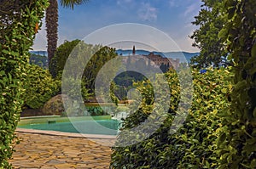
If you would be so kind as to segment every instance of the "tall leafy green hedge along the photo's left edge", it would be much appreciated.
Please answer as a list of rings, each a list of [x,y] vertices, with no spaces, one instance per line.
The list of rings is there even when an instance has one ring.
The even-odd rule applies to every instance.
[[[47,0],[3,0],[0,5],[0,168],[11,168],[29,49]]]

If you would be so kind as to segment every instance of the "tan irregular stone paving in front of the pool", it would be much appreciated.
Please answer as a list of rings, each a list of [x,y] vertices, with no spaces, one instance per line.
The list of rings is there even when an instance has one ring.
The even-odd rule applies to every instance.
[[[20,144],[10,161],[14,168],[109,168],[111,149],[90,138],[17,132]],[[67,133],[66,133],[67,135]],[[98,138],[113,142],[111,138]]]

